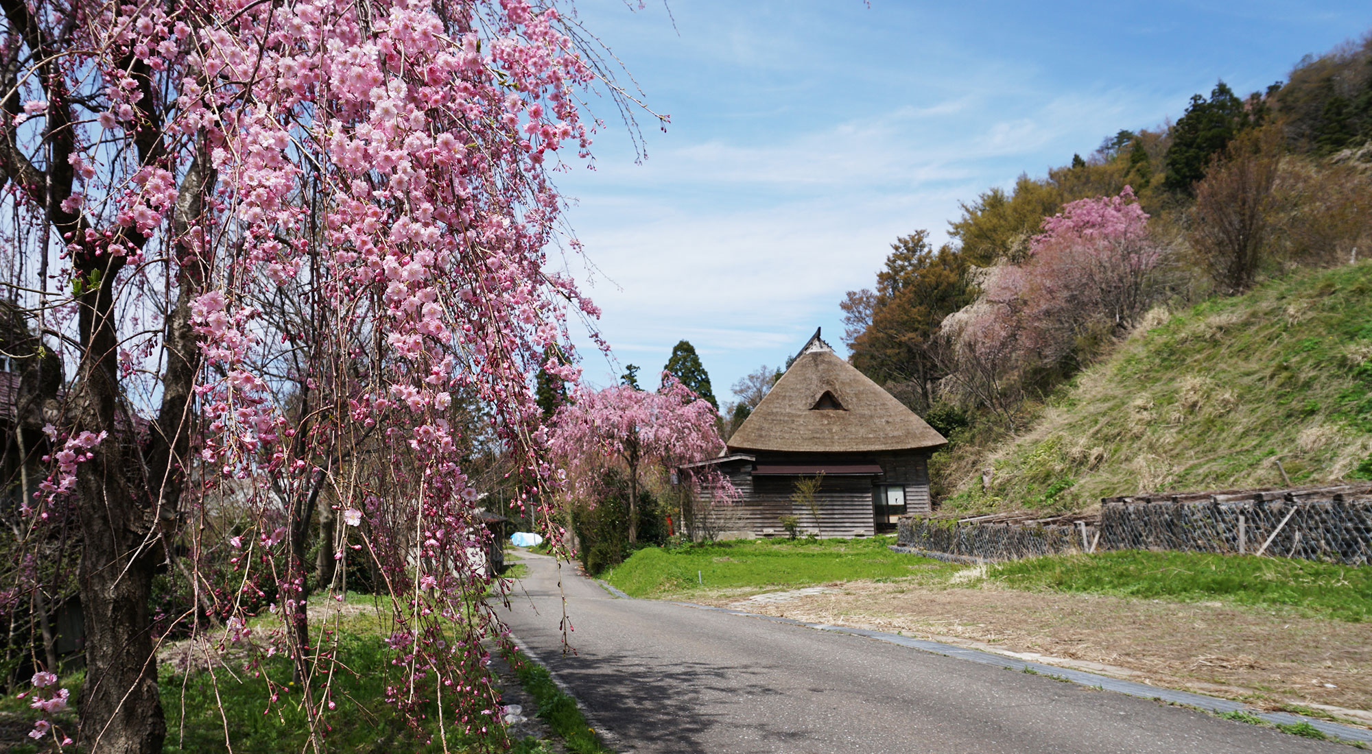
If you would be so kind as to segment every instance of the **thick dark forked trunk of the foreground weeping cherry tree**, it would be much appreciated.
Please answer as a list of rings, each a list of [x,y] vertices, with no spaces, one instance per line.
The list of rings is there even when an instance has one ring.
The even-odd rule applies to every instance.
[[[92,281],[80,296],[84,350],[71,389],[74,429],[108,432],[93,448],[93,458],[77,466],[86,650],[78,731],[80,744],[92,754],[161,754],[166,738],[148,602],[156,563],[166,559],[165,535],[177,521],[191,465],[191,402],[200,369],[191,302],[203,292],[207,259],[185,245],[185,239],[189,223],[203,211],[202,192],[213,185],[213,174],[202,141],[181,182],[173,219],[180,291],[167,313],[162,406],[143,463],[123,450],[136,443],[137,433],[118,380],[119,317],[113,291],[122,258],[85,250],[74,265],[80,278]],[[92,278],[92,271],[100,274]],[[125,474],[140,484],[132,485]]]

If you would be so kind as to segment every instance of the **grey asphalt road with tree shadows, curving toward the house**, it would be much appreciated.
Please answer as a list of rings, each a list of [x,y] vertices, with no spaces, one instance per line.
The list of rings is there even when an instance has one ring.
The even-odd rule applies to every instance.
[[[505,620],[620,754],[1351,751],[860,636],[615,599],[565,563],[521,557],[530,574]]]

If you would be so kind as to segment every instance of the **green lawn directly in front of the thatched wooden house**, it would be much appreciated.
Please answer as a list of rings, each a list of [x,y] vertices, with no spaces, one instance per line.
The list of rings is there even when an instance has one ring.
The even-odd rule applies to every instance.
[[[689,595],[720,588],[788,588],[848,581],[910,577],[938,561],[901,555],[886,548],[893,536],[867,539],[752,539],[686,546],[649,547],[605,574],[630,596]]]

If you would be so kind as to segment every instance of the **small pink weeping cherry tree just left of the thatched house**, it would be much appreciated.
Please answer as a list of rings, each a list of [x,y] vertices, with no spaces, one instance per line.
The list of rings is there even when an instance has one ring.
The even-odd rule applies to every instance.
[[[605,472],[624,472],[630,485],[628,543],[634,544],[643,476],[719,455],[724,441],[716,424],[715,407],[664,372],[657,392],[630,385],[578,389],[553,418],[550,447],[554,463],[565,473],[568,496],[594,503],[608,494]]]

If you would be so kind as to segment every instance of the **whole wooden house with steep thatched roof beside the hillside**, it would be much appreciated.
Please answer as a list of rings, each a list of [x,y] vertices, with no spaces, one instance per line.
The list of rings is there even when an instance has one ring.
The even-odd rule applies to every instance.
[[[929,511],[929,455],[947,440],[819,337],[729,439],[716,466],[742,492],[723,515],[750,536],[785,535],[794,515],[820,536],[895,529],[897,515]],[[797,483],[822,477],[812,509]],[[816,515],[818,511],[818,515]]]

